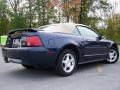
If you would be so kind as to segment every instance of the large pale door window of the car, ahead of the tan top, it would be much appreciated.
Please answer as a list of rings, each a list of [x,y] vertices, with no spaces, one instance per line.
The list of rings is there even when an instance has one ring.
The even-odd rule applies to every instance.
[[[80,31],[81,35],[84,37],[91,37],[96,38],[98,37],[98,34],[92,31],[91,29],[87,27],[77,26],[78,30]]]

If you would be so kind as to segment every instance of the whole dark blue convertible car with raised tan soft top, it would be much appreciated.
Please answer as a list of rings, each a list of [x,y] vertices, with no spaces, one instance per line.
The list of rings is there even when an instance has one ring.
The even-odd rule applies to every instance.
[[[62,76],[71,75],[78,64],[102,60],[115,63],[119,58],[115,42],[88,26],[74,23],[13,30],[2,52],[6,63],[26,68],[54,67]]]

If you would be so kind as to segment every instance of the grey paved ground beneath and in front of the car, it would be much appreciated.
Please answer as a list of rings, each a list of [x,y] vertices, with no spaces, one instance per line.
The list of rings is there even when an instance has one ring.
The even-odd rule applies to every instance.
[[[0,50],[0,90],[120,90],[120,60],[79,65],[72,76],[60,77],[53,70],[5,64]]]

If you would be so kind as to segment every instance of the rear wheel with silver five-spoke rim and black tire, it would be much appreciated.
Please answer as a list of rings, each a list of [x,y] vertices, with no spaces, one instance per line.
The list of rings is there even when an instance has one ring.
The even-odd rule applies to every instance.
[[[61,76],[69,76],[76,70],[77,58],[74,51],[65,49],[57,60],[56,73]]]

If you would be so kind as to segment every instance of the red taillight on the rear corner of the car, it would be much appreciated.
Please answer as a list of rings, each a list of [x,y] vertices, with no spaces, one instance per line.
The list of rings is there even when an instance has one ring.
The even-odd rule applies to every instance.
[[[43,46],[41,39],[38,36],[30,36],[26,38],[26,44],[29,47]]]

